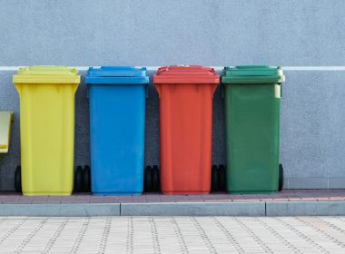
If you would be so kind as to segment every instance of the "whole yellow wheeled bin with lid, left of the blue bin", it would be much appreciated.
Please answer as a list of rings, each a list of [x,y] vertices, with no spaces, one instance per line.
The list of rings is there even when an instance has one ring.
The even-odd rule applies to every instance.
[[[21,179],[24,195],[70,195],[74,187],[74,94],[80,76],[64,66],[20,68]]]

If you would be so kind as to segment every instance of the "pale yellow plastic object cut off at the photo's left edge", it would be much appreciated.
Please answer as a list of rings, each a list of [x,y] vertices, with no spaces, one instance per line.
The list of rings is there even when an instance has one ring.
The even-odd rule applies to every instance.
[[[0,153],[8,152],[13,112],[0,112]]]

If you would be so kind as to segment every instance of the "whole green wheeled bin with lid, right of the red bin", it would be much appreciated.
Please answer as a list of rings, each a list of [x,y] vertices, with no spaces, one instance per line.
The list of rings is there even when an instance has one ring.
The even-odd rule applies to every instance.
[[[230,192],[260,193],[279,189],[279,179],[282,181],[280,102],[284,80],[280,67],[224,69],[226,189]]]

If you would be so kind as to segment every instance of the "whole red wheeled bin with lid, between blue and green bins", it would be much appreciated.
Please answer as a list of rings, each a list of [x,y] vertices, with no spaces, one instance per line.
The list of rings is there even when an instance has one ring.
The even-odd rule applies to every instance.
[[[153,76],[160,98],[163,194],[207,194],[211,189],[212,68],[165,66]]]

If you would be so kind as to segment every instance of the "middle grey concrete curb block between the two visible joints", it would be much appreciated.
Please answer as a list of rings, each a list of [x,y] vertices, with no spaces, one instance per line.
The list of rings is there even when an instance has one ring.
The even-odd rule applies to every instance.
[[[123,216],[265,216],[264,202],[122,203]]]

